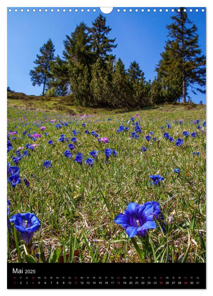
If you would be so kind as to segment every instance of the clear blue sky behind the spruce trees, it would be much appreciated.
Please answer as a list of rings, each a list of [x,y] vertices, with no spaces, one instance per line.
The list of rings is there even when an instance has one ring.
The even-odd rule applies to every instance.
[[[86,9],[84,12],[80,9],[78,12],[74,9],[69,12],[66,7],[66,12],[63,12],[63,7],[57,12],[57,8],[53,7],[54,12],[51,12],[50,8],[48,12],[44,11],[45,8],[42,8],[42,12],[38,12],[38,8],[36,12],[32,12],[31,7],[30,12],[24,7],[24,12],[20,11],[21,8],[14,12],[12,8],[12,12],[7,13],[7,86],[12,90],[28,95],[41,94],[42,86],[32,86],[29,76],[30,70],[35,66],[33,61],[36,54],[39,54],[40,46],[51,38],[56,49],[55,55],[61,56],[65,35],[70,35],[81,21],[90,26],[100,13],[99,7],[96,12],[92,11],[93,8],[90,8],[90,12]],[[187,12],[188,18],[198,27],[199,44],[203,54],[206,54],[206,12],[201,12],[201,8],[195,12],[192,7],[193,12],[189,12],[189,7]],[[156,8],[156,12],[153,12],[153,8],[150,8],[150,12],[147,12],[146,8],[144,12],[141,12],[141,9],[135,12],[134,7],[132,10],[129,12],[126,8],[126,12],[117,12],[117,8],[114,8],[110,14],[104,15],[107,25],[112,28],[109,38],[116,37],[118,44],[113,54],[122,59],[126,68],[130,62],[136,60],[146,79],[153,80],[156,75],[155,65],[167,40],[166,25],[172,22],[170,16],[175,12],[171,9],[165,12],[165,8],[162,12],[159,12],[159,8]],[[189,94],[195,103],[200,100],[206,103],[206,95],[194,95],[190,90]]]

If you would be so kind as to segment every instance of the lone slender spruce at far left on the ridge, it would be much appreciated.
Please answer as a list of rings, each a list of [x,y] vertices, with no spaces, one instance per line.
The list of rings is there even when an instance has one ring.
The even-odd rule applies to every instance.
[[[45,43],[40,48],[40,55],[36,55],[37,59],[34,63],[37,65],[34,67],[34,70],[30,70],[30,76],[32,85],[35,86],[38,84],[40,86],[43,84],[42,94],[44,95],[45,87],[48,86],[50,79],[50,62],[53,61],[54,58],[54,45],[52,40],[49,39],[47,43]]]

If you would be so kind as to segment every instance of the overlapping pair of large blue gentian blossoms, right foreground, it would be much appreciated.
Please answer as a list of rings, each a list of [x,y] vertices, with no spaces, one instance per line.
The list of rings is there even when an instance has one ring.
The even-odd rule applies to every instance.
[[[119,214],[114,221],[125,229],[130,238],[135,235],[144,238],[147,229],[156,228],[154,220],[159,219],[160,215],[159,203],[155,201],[146,202],[144,205],[131,202],[126,211]]]

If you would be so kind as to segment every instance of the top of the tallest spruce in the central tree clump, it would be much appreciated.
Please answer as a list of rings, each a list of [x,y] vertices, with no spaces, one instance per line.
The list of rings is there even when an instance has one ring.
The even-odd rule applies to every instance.
[[[107,60],[109,53],[112,52],[113,48],[116,48],[117,44],[114,44],[116,38],[109,39],[107,37],[111,30],[106,25],[106,18],[101,14],[92,22],[92,27],[88,28],[95,61],[98,58],[103,59],[103,61]]]

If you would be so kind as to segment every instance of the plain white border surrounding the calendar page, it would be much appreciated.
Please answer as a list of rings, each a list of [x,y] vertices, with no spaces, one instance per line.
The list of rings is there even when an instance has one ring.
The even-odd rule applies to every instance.
[[[60,4],[60,5],[58,5]],[[76,4],[76,5],[75,5]],[[89,4],[89,5],[88,5]],[[140,289],[140,291],[138,290],[134,290],[135,293],[141,293],[141,294],[146,294],[149,293],[149,295],[154,295],[154,293],[160,293],[161,295],[180,295],[180,293],[182,295],[188,295],[189,293],[193,293],[193,295],[199,295],[202,293],[208,293],[210,294],[210,290],[213,291],[212,289],[212,283],[213,283],[213,279],[211,278],[213,271],[212,271],[212,266],[213,266],[213,256],[212,256],[212,245],[213,245],[213,237],[211,234],[211,226],[212,226],[212,221],[211,221],[211,216],[212,216],[212,208],[213,208],[213,196],[212,196],[212,192],[211,192],[211,176],[212,176],[212,167],[213,167],[213,161],[212,161],[212,145],[213,145],[213,139],[212,139],[212,133],[211,130],[213,130],[213,123],[211,122],[211,115],[212,115],[212,111],[213,111],[213,91],[212,91],[212,68],[213,68],[213,57],[212,57],[212,36],[211,36],[211,29],[213,28],[213,4],[210,3],[210,1],[197,1],[197,0],[193,0],[193,1],[188,1],[188,0],[180,0],[180,1],[118,1],[118,0],[108,0],[108,1],[56,1],[56,0],[52,0],[52,1],[41,1],[41,0],[37,0],[37,1],[26,1],[26,0],[20,0],[20,1],[15,1],[15,0],[9,0],[9,1],[5,1],[2,0],[1,4],[0,4],[0,21],[1,21],[1,41],[3,40],[3,42],[1,42],[1,47],[0,47],[0,57],[1,57],[1,65],[3,65],[3,68],[1,68],[1,79],[0,79],[0,83],[1,83],[1,109],[0,109],[0,120],[1,120],[1,145],[0,145],[0,188],[1,188],[1,197],[0,197],[0,201],[2,203],[2,206],[0,207],[0,217],[1,217],[1,221],[0,221],[0,225],[1,225],[1,244],[0,244],[0,254],[1,254],[1,265],[0,265],[0,283],[1,283],[1,288],[4,287],[4,291],[6,289],[6,231],[4,231],[4,229],[6,229],[6,210],[5,210],[5,197],[6,197],[6,149],[5,149],[5,144],[4,144],[4,139],[6,139],[6,7],[17,7],[17,8],[21,8],[21,7],[135,7],[135,8],[139,8],[139,7],[147,7],[147,8],[155,8],[155,7],[206,7],[206,14],[207,14],[207,52],[209,53],[209,55],[207,56],[207,95],[208,98],[207,99],[207,104],[208,104],[208,109],[207,109],[207,159],[208,159],[208,165],[207,165],[207,229],[209,229],[208,234],[207,234],[207,250],[209,250],[209,252],[207,252],[207,290],[147,290],[147,289]],[[210,69],[208,71],[208,69]],[[209,87],[208,87],[208,82],[209,82]],[[208,118],[210,118],[208,120]],[[208,256],[209,254],[209,256]],[[141,263],[142,264],[142,263]],[[143,268],[143,266],[142,266]],[[175,268],[175,265],[171,264],[171,269]],[[1,291],[3,291],[3,289],[1,289]],[[59,290],[7,290],[5,291],[7,295],[13,295],[14,294],[16,296],[19,295],[23,295],[26,293],[30,293],[31,295],[36,295],[39,292],[39,295],[47,295],[47,294],[51,294],[51,295],[57,295],[58,293],[60,293]],[[67,290],[64,290],[64,293],[67,294]],[[101,295],[105,296],[105,295],[117,295],[117,294],[122,294],[122,296],[126,296],[129,295],[129,293],[132,293],[133,291],[130,289],[122,289],[122,290],[74,290],[72,289],[71,291],[69,291],[68,293],[72,293],[75,295],[83,295],[83,294],[87,294],[88,296],[94,296],[94,295],[99,295],[101,293]],[[211,293],[212,294],[212,293]]]

